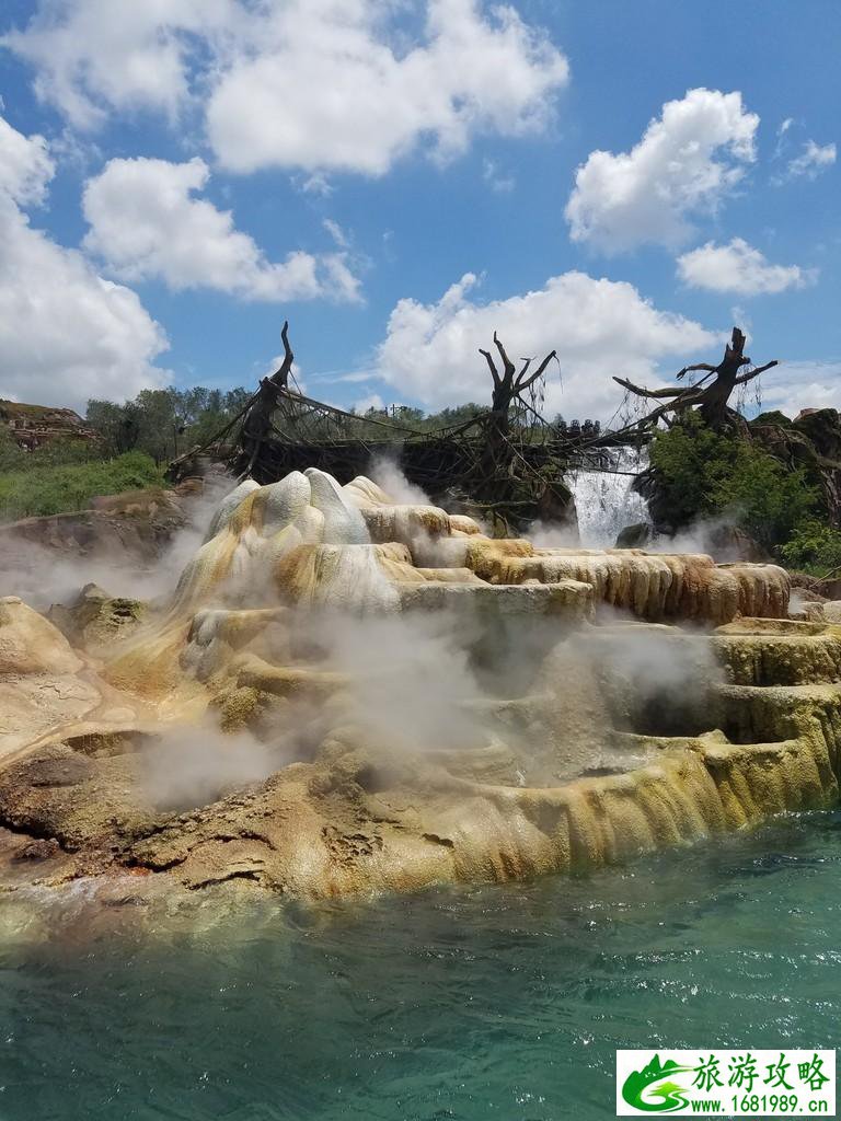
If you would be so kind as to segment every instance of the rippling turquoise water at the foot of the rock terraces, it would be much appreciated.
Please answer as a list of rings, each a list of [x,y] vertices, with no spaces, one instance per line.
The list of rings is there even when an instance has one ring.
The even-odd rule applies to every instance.
[[[617,1047],[841,1043],[839,814],[586,880],[132,910],[0,948],[2,1121],[608,1118]]]

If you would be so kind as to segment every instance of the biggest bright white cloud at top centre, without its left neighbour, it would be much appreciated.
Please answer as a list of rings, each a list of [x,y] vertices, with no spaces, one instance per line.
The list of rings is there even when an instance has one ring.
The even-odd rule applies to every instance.
[[[424,41],[398,54],[373,0],[294,0],[267,18],[258,50],[222,75],[207,133],[224,166],[382,175],[432,142],[461,152],[477,130],[542,126],[566,84],[564,56],[510,7],[428,0]]]

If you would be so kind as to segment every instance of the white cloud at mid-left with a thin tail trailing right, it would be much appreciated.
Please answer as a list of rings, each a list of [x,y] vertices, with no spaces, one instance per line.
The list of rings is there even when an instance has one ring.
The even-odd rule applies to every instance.
[[[346,253],[266,259],[230,211],[194,197],[210,178],[198,159],[112,159],[84,192],[85,248],[123,279],[161,278],[173,289],[215,288],[243,299],[358,300]]]

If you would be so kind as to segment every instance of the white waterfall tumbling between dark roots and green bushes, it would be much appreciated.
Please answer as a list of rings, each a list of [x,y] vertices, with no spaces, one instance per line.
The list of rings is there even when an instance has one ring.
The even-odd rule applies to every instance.
[[[575,500],[585,548],[612,548],[627,526],[651,524],[646,500],[631,489],[636,474],[648,466],[647,453],[617,448],[608,455],[608,470],[571,471],[564,479]]]

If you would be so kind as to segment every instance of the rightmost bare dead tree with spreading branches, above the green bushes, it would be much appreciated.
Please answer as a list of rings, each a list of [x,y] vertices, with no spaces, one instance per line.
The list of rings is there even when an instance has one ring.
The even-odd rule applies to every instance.
[[[613,378],[622,388],[636,393],[637,397],[663,400],[648,416],[639,421],[640,427],[648,427],[656,424],[660,418],[668,418],[668,414],[682,413],[684,409],[697,407],[706,424],[720,432],[724,428],[732,416],[728,408],[728,401],[733,390],[738,386],[745,386],[760,373],[777,365],[777,360],[766,362],[748,373],[739,373],[743,365],[750,365],[750,359],[745,353],[745,335],[738,327],[733,327],[730,342],[724,348],[724,356],[718,365],[710,365],[709,362],[697,362],[695,365],[685,365],[677,374],[678,380],[693,370],[705,370],[705,377],[684,389],[681,386],[665,386],[663,389],[646,389],[635,386],[625,378]],[[710,379],[713,379],[710,381]],[[710,382],[709,385],[704,385]]]

